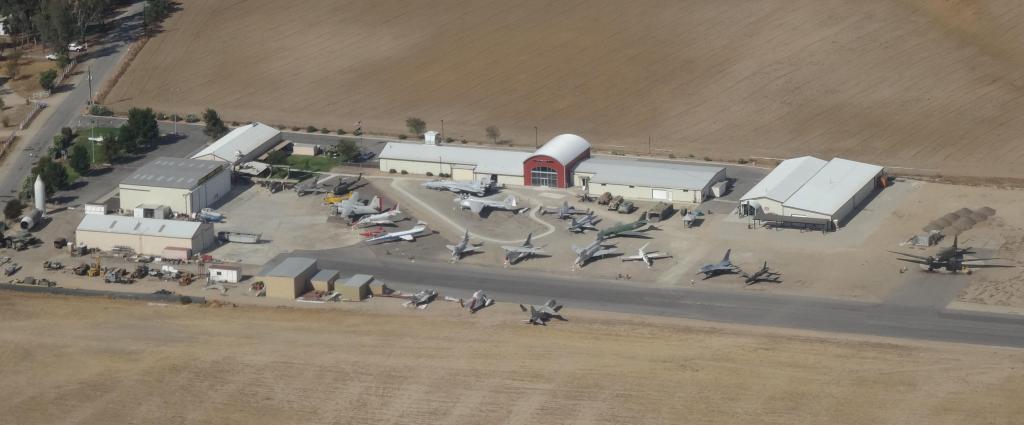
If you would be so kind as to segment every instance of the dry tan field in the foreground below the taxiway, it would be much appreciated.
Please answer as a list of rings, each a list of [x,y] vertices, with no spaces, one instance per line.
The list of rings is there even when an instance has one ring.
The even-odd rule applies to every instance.
[[[566,310],[0,293],[17,424],[1017,423],[1024,352]]]

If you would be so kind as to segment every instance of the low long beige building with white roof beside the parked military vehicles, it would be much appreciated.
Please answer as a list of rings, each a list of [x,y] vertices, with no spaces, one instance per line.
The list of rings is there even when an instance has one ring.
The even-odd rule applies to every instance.
[[[163,255],[167,248],[203,252],[215,238],[210,223],[121,215],[86,215],[75,231],[77,246],[103,251],[129,248],[147,255]]]

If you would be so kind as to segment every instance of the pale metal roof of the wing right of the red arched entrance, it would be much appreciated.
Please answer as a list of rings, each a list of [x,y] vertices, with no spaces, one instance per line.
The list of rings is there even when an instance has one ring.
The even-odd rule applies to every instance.
[[[702,190],[725,168],[665,161],[594,157],[580,163],[578,173],[594,174],[594,183]]]

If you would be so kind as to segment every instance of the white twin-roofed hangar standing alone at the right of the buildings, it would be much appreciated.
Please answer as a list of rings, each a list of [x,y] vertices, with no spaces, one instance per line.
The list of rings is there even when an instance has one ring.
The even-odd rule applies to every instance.
[[[743,195],[740,214],[835,229],[884,185],[883,168],[842,158],[783,161]]]

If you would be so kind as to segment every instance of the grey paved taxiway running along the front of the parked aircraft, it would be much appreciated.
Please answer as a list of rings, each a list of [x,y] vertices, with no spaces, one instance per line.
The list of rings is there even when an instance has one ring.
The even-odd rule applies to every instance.
[[[468,297],[482,289],[506,302],[540,303],[555,298],[568,308],[1024,347],[1024,320],[1011,315],[732,290],[649,288],[625,282],[554,277],[514,267],[497,269],[377,258],[360,248],[297,254],[317,257],[325,268],[374,274],[400,290],[437,288],[449,295]]]

